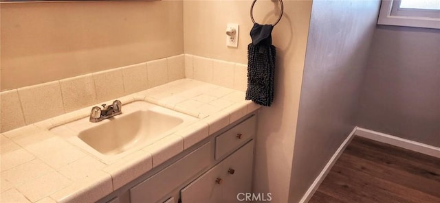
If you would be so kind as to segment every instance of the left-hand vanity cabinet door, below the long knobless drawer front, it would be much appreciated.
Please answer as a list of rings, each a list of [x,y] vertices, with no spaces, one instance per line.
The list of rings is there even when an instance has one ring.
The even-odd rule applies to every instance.
[[[223,167],[216,165],[208,172],[181,189],[183,203],[224,203],[221,201],[221,185],[224,184],[220,173]]]

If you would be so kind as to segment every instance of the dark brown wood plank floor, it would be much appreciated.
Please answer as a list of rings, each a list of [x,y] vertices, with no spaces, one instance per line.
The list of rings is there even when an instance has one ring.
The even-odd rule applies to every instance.
[[[355,136],[309,202],[440,203],[440,159]]]

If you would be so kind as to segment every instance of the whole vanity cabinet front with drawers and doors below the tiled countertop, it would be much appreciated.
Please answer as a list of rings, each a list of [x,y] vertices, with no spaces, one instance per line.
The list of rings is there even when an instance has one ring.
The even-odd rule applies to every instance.
[[[243,117],[99,202],[240,202],[252,192],[255,134],[256,115]]]

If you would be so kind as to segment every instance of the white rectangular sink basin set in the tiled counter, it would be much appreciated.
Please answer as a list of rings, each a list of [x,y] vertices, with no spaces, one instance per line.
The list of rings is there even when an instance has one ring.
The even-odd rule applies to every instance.
[[[180,112],[134,101],[123,105],[122,114],[113,118],[91,123],[87,117],[51,131],[98,158],[108,159],[146,147],[194,121],[197,119]]]

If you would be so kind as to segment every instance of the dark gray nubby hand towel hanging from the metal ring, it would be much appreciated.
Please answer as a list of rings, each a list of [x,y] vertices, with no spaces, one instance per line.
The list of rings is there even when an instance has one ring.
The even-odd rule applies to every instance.
[[[252,27],[252,43],[248,45],[248,90],[246,100],[270,106],[274,101],[275,47],[272,45],[272,25]]]

